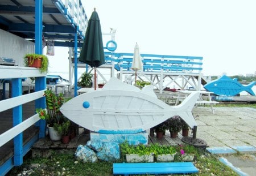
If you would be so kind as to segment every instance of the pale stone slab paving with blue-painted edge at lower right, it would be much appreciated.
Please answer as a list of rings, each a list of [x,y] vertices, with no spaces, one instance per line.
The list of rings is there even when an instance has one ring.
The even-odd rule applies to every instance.
[[[207,142],[207,150],[239,175],[256,173],[256,109],[197,107],[197,138]],[[237,153],[243,153],[239,155]]]

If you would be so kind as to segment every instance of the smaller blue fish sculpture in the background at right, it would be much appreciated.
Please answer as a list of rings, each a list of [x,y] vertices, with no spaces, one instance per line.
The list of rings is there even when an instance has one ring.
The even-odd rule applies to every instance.
[[[250,95],[255,96],[251,89],[255,84],[256,81],[253,81],[248,85],[242,85],[237,81],[237,78],[231,79],[224,75],[220,79],[205,84],[204,88],[218,96],[235,96],[242,91],[246,91],[250,93]]]

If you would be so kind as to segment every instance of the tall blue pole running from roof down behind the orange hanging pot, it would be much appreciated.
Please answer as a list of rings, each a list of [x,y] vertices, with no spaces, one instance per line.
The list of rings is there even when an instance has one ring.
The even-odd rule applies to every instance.
[[[43,36],[43,0],[35,1],[35,53],[42,54],[42,36]],[[46,76],[35,79],[35,91],[46,89]],[[46,98],[40,98],[35,101],[35,108],[46,108]],[[40,120],[36,123],[40,127],[39,138],[44,138],[46,134],[46,121]]]

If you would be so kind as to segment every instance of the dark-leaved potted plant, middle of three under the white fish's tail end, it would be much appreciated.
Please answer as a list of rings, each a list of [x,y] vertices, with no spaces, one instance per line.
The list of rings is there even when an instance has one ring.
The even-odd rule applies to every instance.
[[[175,115],[167,120],[167,129],[170,131],[171,138],[177,137],[177,133],[181,130],[181,125],[179,115]]]

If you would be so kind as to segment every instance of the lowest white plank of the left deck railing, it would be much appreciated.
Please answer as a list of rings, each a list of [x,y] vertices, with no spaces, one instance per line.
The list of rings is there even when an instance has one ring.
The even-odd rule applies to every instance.
[[[39,115],[35,114],[32,117],[26,119],[26,121],[23,121],[22,123],[20,123],[19,125],[16,125],[15,127],[11,128],[6,132],[3,132],[0,135],[0,147],[5,143],[7,143],[9,140],[13,139],[16,135],[20,134],[20,132],[23,132],[28,127],[38,122],[39,120],[40,120]]]

